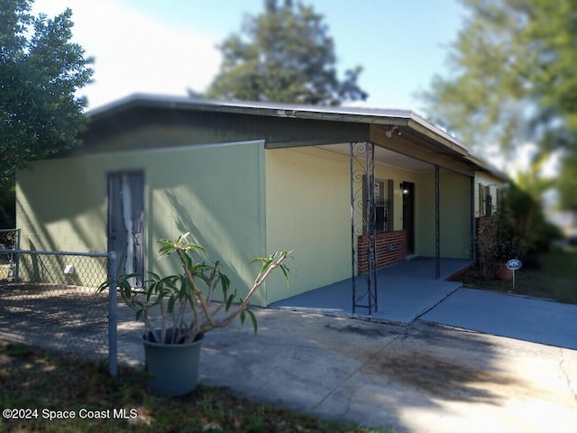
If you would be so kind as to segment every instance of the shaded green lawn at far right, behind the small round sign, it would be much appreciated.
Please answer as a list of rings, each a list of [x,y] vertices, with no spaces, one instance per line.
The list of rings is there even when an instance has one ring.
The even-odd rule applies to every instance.
[[[472,268],[454,278],[471,289],[499,291],[577,304],[577,247],[554,249],[539,256],[538,267],[523,267],[513,281],[483,281]]]

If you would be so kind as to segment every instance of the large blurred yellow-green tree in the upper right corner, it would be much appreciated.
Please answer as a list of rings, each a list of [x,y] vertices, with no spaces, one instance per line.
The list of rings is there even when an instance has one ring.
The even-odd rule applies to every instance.
[[[498,144],[511,158],[536,143],[536,161],[557,154],[575,170],[577,0],[462,1],[470,14],[451,46],[452,74],[422,95],[427,116],[481,151]]]

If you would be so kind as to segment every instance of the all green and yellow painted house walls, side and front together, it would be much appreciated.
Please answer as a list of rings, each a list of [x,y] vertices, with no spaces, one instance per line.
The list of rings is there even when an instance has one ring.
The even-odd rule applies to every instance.
[[[180,138],[182,141],[182,137]],[[159,238],[191,231],[209,259],[221,259],[242,295],[259,255],[294,250],[253,302],[275,300],[351,276],[349,156],[314,147],[265,150],[245,142],[87,153],[36,161],[19,172],[17,224],[24,249],[106,251],[107,174],[142,170],[145,180],[146,270],[179,272],[157,261]],[[415,248],[435,255],[435,173],[377,163],[376,178],[393,180],[395,230],[403,227],[400,182],[415,184]],[[471,180],[441,170],[441,255],[471,257]]]

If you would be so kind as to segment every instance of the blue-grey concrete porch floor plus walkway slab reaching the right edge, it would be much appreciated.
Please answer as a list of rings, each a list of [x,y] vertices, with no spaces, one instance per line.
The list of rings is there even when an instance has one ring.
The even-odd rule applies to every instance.
[[[471,264],[442,259],[441,278],[435,279],[435,259],[417,258],[377,272],[378,311],[353,314],[352,281],[344,280],[275,302],[273,309],[292,309],[334,316],[373,318],[410,326],[417,319],[494,336],[577,349],[577,306],[547,299],[464,289],[446,281]],[[360,281],[358,284],[365,284]],[[366,286],[359,291],[366,290]]]

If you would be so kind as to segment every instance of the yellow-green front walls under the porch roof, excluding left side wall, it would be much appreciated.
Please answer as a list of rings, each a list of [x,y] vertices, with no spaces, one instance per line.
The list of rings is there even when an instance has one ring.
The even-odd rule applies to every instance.
[[[266,158],[267,251],[294,250],[289,289],[278,276],[268,302],[351,276],[350,161],[316,148],[268,150]],[[400,182],[415,184],[418,255],[435,255],[435,172],[375,164],[375,177],[393,180],[393,226],[403,228]],[[441,254],[471,257],[470,178],[441,173]],[[361,188],[360,185],[358,188]]]

